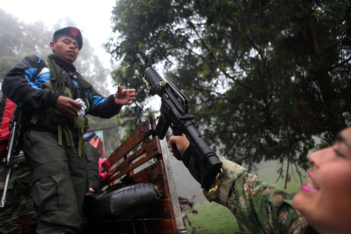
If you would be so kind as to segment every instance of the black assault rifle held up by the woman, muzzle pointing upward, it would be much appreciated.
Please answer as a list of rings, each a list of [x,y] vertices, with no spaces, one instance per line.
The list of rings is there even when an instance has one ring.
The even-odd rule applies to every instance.
[[[161,97],[161,115],[156,126],[159,139],[162,140],[165,137],[169,127],[173,135],[180,136],[184,133],[196,154],[194,156],[196,156],[201,171],[201,187],[210,190],[216,175],[221,174],[222,162],[194,126],[194,116],[188,114],[188,99],[173,83],[165,82],[161,78],[152,67],[150,54],[147,55],[145,62],[140,54],[137,54],[137,58],[144,66],[143,79],[149,94],[152,96],[157,94]],[[181,160],[181,155],[175,145],[173,154],[178,160]]]

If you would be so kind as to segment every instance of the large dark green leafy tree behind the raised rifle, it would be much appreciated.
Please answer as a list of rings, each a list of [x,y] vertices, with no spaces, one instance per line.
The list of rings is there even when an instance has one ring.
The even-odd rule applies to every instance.
[[[145,114],[135,54],[150,52],[221,155],[248,167],[264,159],[306,169],[309,150],[350,125],[350,4],[117,0],[116,36],[106,45],[121,62],[113,77],[137,89],[134,108]]]

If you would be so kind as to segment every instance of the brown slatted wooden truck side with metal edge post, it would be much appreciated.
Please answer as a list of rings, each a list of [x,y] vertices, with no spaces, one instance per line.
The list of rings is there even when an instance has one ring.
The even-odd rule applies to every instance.
[[[155,127],[154,115],[144,119],[141,125],[104,161],[102,167],[106,171],[104,185],[113,185],[128,175],[135,186],[156,185],[156,189],[160,192],[159,196],[155,201],[126,209],[115,215],[99,218],[88,216],[86,233],[176,234],[187,232],[181,216],[168,145],[165,139],[158,139]],[[135,173],[135,171],[138,172]],[[134,187],[131,188],[131,193]],[[124,200],[128,202],[128,196],[122,199]],[[30,213],[28,215],[31,216]],[[30,220],[28,215],[23,219],[27,220],[27,223]],[[23,230],[27,229],[27,226],[24,222]],[[22,233],[28,232],[24,230]]]

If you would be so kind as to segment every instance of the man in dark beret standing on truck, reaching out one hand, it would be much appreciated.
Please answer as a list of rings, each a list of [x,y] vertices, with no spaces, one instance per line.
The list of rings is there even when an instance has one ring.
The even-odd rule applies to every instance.
[[[38,234],[82,232],[88,192],[85,115],[111,118],[135,100],[135,89],[120,85],[107,98],[93,89],[72,64],[82,44],[78,28],[59,29],[47,62],[26,56],[2,83],[4,95],[22,109],[22,150],[32,172]]]

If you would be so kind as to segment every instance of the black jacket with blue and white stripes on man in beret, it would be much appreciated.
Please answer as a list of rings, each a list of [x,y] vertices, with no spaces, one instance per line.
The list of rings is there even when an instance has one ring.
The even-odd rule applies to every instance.
[[[31,118],[34,112],[45,111],[49,107],[55,109],[58,99],[58,95],[51,90],[40,88],[51,78],[48,66],[42,63],[45,63],[45,61],[38,55],[26,56],[10,69],[2,82],[2,92],[24,110],[24,115],[28,117],[27,120]],[[44,68],[33,79],[38,67]],[[75,82],[71,83],[76,84]],[[90,97],[88,97],[88,94]],[[100,118],[111,118],[118,114],[122,107],[115,104],[113,95],[105,98],[93,88],[81,95],[86,96],[89,100],[90,108],[86,114],[99,116]],[[57,125],[54,123],[37,122],[35,125],[30,121],[22,123],[22,133],[31,129],[49,131],[57,135]]]

